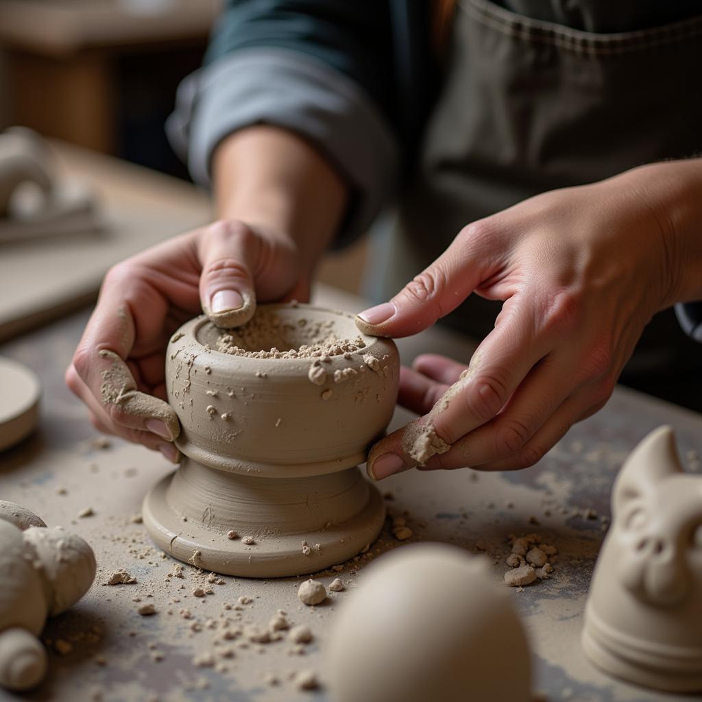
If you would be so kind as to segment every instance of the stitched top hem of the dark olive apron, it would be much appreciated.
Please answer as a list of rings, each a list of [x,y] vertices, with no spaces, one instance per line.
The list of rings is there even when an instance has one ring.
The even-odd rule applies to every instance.
[[[482,22],[492,29],[496,29],[498,32],[507,34],[510,37],[590,55],[629,53],[643,48],[663,46],[673,41],[691,39],[702,34],[702,18],[697,17],[694,18],[694,20],[678,22],[668,27],[659,27],[652,30],[637,32],[639,36],[614,36],[611,38],[606,36],[578,37],[576,34],[569,34],[567,28],[557,29],[555,27],[536,27],[534,25],[528,25],[525,20],[528,21],[529,18],[517,18],[510,23],[507,18],[496,15],[491,8],[487,6],[477,6],[475,0],[471,0],[468,3],[459,0],[458,4],[475,20]],[[698,26],[691,27],[691,21],[694,22],[694,25]]]

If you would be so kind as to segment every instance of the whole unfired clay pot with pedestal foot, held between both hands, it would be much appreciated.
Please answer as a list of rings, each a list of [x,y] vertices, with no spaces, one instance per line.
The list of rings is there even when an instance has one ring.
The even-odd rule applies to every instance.
[[[383,501],[357,465],[392,417],[399,357],[391,340],[360,334],[343,312],[262,305],[253,321],[261,319],[270,333],[253,344],[237,337],[237,346],[285,352],[333,335],[363,347],[327,357],[230,355],[217,350],[223,330],[206,317],[184,324],[168,345],[166,388],[185,458],[147,495],[143,517],[161,548],[200,567],[307,574],[378,536]]]

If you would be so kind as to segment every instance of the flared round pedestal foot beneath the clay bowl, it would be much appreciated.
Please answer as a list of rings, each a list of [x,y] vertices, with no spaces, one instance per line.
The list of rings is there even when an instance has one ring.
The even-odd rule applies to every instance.
[[[147,494],[143,519],[157,545],[181,561],[270,578],[313,573],[357,555],[380,533],[385,505],[358,468],[267,478],[186,457]],[[254,543],[246,545],[247,537]]]

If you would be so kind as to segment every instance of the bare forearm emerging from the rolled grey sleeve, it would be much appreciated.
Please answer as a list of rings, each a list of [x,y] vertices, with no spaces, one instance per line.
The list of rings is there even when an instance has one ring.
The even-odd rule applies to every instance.
[[[312,270],[340,227],[349,197],[322,154],[284,129],[251,126],[227,137],[212,165],[218,216],[291,237]]]

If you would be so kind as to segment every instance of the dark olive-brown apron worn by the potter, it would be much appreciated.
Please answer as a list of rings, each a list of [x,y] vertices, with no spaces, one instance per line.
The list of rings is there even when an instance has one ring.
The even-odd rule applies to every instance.
[[[385,299],[474,220],[540,192],[702,152],[702,15],[595,34],[463,0],[448,58],[391,234]],[[500,306],[472,295],[444,323],[483,338]],[[621,380],[702,409],[701,369],[699,345],[666,310]]]

